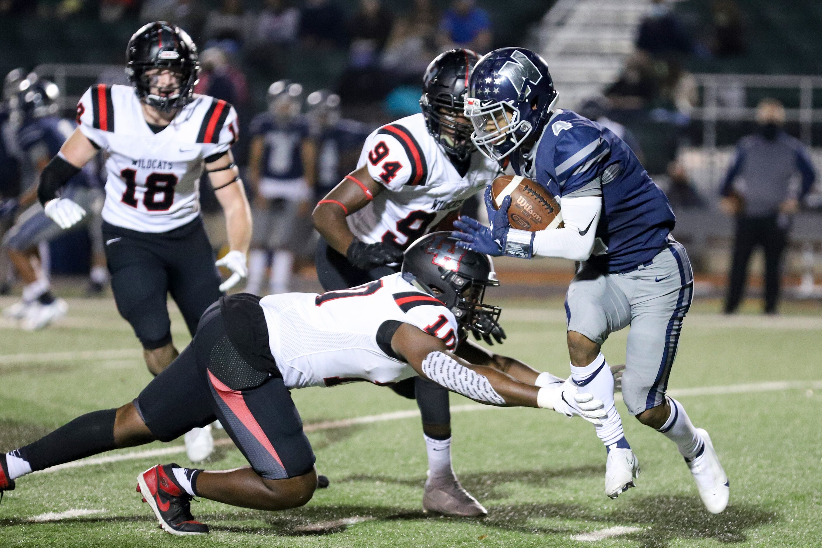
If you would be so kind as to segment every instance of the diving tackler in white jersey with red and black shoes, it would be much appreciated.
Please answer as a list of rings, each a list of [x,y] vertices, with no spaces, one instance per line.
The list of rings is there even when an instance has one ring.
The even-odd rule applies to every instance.
[[[447,233],[421,238],[402,272],[350,290],[224,297],[205,312],[192,344],[134,401],[91,412],[44,438],[0,454],[0,491],[26,473],[111,449],[169,441],[215,418],[251,467],[208,472],[156,465],[137,490],[165,531],[208,532],[192,497],[245,508],[289,509],[311,500],[314,454],[289,389],[424,376],[481,403],[549,408],[594,424],[603,403],[570,381],[491,352],[455,350],[460,331],[487,329],[500,309],[491,260]],[[478,318],[491,319],[475,325]]]

